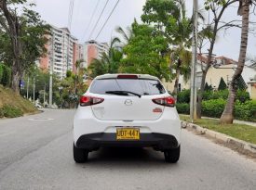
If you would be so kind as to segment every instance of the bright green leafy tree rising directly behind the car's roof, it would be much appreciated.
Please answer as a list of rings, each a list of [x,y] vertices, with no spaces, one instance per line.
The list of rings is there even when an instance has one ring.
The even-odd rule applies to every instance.
[[[170,80],[168,70],[168,43],[161,33],[136,20],[131,26],[133,33],[124,47],[126,57],[122,59],[120,72],[144,73],[160,79]]]

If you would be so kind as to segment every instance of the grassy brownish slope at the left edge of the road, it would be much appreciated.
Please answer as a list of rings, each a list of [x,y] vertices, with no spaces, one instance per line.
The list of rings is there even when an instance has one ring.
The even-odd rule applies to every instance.
[[[0,85],[0,118],[15,118],[36,111],[37,108],[30,101]]]

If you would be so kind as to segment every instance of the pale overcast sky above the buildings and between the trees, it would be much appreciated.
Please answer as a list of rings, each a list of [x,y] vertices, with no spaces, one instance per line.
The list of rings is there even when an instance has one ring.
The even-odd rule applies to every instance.
[[[92,32],[94,25],[101,14],[101,10],[107,0],[99,0],[99,6],[96,9],[95,15],[89,24],[93,10],[97,5],[98,0],[74,0],[73,21],[71,24],[72,34],[84,43],[89,40],[89,34]],[[36,4],[35,10],[41,15],[41,19],[47,23],[57,27],[67,27],[69,18],[70,0],[33,0]],[[101,27],[112,8],[115,6],[117,0],[109,0],[102,17],[92,32],[92,38],[95,38],[100,32]],[[108,20],[97,41],[110,42],[111,38],[116,35],[115,28],[121,26],[126,28],[130,26],[134,19],[141,20],[142,7],[146,0],[120,0],[116,6],[111,18]],[[203,8],[203,0],[199,0],[199,8]],[[187,15],[190,17],[193,10],[193,0],[186,0]],[[237,7],[230,8],[222,17],[223,20],[240,19],[236,16]],[[208,17],[208,13],[204,12]],[[256,21],[256,16],[251,15],[251,20]],[[88,29],[88,30],[87,30]],[[256,28],[255,28],[256,31]],[[217,43],[213,53],[217,56],[231,57],[238,59],[240,45],[240,29],[234,28],[227,32],[220,32],[218,34]],[[209,45],[205,46],[204,52],[207,52]],[[249,34],[248,56],[256,57],[256,35]]]

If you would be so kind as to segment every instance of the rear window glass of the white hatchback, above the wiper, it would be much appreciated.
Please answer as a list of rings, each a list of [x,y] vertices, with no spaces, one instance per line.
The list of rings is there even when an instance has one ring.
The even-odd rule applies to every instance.
[[[90,93],[105,95],[107,91],[129,91],[139,95],[166,93],[159,81],[150,79],[100,79],[91,84]]]

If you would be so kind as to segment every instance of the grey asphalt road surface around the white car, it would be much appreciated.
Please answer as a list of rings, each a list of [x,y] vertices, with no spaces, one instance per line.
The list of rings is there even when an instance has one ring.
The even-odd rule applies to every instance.
[[[74,110],[0,120],[0,189],[256,189],[256,162],[182,131],[177,164],[151,148],[104,148],[73,160]]]

